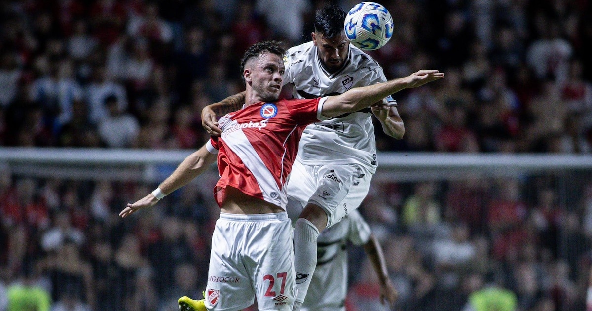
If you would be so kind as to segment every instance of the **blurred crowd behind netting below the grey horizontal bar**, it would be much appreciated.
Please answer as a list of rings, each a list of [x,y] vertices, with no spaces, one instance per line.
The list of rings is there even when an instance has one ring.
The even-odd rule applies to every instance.
[[[201,297],[215,247],[216,179],[212,171],[122,220],[126,203],[156,184],[0,170],[0,310],[173,311],[178,297]],[[399,298],[392,308],[380,304],[371,262],[350,246],[348,311],[585,309],[589,170],[382,178],[359,210],[384,248]]]

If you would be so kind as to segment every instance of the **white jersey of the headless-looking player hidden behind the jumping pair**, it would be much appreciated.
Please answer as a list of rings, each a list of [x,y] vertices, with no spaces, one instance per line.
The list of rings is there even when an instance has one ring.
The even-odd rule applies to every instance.
[[[348,293],[348,241],[363,245],[370,239],[368,223],[357,210],[321,232],[317,239],[318,259],[302,310],[345,310]]]

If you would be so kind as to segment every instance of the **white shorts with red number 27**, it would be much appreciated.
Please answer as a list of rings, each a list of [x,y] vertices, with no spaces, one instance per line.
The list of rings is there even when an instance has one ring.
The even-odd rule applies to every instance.
[[[286,213],[220,213],[205,290],[208,310],[292,310],[296,294],[292,226]]]

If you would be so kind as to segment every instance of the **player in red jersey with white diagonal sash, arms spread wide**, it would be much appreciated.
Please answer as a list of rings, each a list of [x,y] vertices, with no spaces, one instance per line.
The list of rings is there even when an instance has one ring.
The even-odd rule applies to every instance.
[[[212,137],[155,191],[120,213],[127,217],[155,205],[217,159],[220,179],[214,196],[220,219],[212,237],[206,297],[179,299],[179,306],[187,310],[240,310],[255,297],[260,310],[291,310],[296,287],[285,184],[304,128],[444,76],[438,70],[420,70],[338,96],[278,100],[283,55],[275,41],[249,47],[242,60],[244,107],[220,120],[220,137]]]

